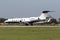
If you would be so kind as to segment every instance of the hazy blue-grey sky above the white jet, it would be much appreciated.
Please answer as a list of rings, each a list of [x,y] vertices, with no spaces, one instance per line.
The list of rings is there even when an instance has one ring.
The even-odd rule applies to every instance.
[[[0,18],[36,17],[44,10],[60,18],[60,0],[0,0]]]

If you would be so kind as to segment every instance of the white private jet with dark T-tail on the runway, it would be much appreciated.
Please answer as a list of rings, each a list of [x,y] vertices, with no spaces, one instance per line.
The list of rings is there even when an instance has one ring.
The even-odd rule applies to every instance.
[[[48,12],[54,11],[42,11],[41,15],[38,17],[29,18],[10,18],[4,21],[4,23],[24,23],[25,25],[33,25],[34,23],[46,23],[52,22],[53,17],[48,15]]]

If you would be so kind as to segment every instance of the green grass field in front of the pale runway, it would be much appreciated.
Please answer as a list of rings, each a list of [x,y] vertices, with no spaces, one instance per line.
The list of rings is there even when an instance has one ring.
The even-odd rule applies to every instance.
[[[0,28],[0,40],[60,40],[60,28]]]

